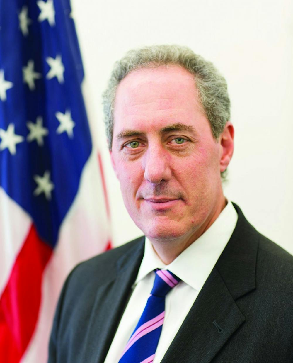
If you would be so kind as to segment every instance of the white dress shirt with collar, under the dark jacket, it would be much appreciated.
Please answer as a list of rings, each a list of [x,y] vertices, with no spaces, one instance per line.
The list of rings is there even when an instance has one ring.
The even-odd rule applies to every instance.
[[[153,360],[153,363],[161,362],[230,239],[237,219],[232,203],[228,202],[211,227],[169,265],[164,265],[148,238],[145,239],[144,257],[133,291],[104,363],[117,363],[121,358],[152,290],[156,268],[168,269],[182,280],[166,296],[164,324]]]

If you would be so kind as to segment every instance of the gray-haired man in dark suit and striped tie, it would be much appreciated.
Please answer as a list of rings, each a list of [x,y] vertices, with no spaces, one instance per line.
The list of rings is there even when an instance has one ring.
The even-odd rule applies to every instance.
[[[188,48],[116,63],[104,93],[111,160],[146,238],[71,272],[49,362],[293,361],[293,258],[223,195],[229,108],[224,78]]]

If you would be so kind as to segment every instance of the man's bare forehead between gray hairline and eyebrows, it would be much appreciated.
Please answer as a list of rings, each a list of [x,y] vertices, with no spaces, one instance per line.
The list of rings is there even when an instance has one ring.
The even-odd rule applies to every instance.
[[[124,114],[174,118],[187,109],[201,109],[193,76],[179,66],[139,69],[119,84],[114,104],[114,119]],[[115,122],[114,122],[115,123]]]

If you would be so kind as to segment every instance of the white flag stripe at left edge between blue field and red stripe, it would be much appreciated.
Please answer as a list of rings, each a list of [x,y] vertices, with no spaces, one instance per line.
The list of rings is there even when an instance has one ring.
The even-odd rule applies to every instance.
[[[28,213],[0,187],[0,296],[31,225]]]

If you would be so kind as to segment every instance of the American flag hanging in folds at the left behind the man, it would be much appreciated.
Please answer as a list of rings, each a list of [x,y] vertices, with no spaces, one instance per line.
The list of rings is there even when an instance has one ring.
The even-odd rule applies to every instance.
[[[73,266],[109,248],[69,0],[0,0],[0,362],[46,362]]]

